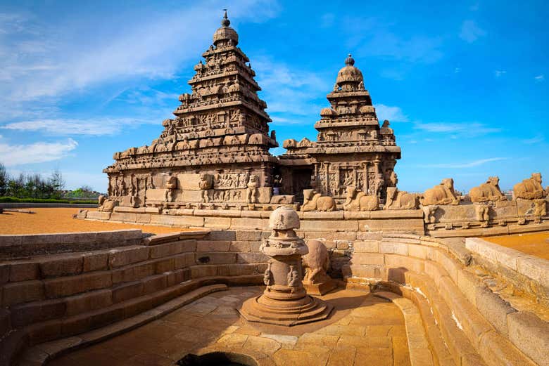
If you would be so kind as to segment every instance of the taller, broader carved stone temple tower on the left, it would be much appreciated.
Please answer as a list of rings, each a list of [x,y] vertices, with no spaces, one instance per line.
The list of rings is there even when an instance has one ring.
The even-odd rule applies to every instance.
[[[269,149],[278,143],[238,43],[225,11],[204,60],[194,66],[191,93],[179,96],[175,118],[165,119],[151,145],[116,152],[115,164],[104,170],[111,197],[134,207],[269,202],[277,164]]]

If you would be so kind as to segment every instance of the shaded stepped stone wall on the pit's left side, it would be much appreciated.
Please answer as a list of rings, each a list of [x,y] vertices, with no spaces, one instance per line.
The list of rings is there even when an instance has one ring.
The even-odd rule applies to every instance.
[[[258,254],[239,252],[251,250],[249,241],[235,247],[206,235],[141,234],[141,244],[113,240],[99,250],[0,262],[0,365],[13,364],[23,348],[133,317],[199,287],[262,282]]]

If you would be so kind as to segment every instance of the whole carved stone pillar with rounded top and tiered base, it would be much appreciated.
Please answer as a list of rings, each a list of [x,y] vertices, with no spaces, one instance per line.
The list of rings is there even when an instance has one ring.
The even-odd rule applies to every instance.
[[[299,217],[289,207],[275,209],[269,219],[272,235],[260,247],[271,259],[265,270],[267,288],[261,296],[248,299],[239,310],[246,320],[275,325],[298,325],[328,318],[333,306],[308,296],[303,288],[301,256],[308,254],[305,242],[296,235]]]

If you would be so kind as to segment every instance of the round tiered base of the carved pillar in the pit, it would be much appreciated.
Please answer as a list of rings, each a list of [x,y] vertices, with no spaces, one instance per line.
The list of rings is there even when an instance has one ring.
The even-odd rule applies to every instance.
[[[257,296],[244,301],[239,313],[248,322],[262,322],[291,327],[327,319],[334,306],[312,296],[285,301]]]

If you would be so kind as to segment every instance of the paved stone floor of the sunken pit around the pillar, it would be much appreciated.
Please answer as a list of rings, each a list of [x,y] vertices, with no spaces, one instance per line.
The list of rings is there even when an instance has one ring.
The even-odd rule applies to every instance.
[[[321,296],[336,312],[329,320],[279,327],[249,323],[236,308],[260,287],[210,294],[100,344],[68,353],[51,366],[174,365],[187,353],[232,351],[260,365],[410,365],[404,318],[372,294],[336,290]]]

